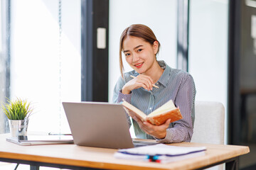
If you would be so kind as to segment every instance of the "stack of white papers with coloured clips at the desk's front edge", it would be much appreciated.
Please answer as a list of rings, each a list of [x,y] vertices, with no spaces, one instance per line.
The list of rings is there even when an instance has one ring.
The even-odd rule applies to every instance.
[[[205,151],[206,147],[175,147],[157,144],[130,149],[119,149],[114,154],[114,157],[168,163],[203,156],[205,155]]]

